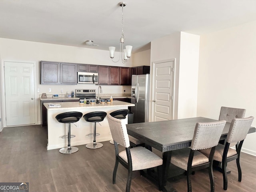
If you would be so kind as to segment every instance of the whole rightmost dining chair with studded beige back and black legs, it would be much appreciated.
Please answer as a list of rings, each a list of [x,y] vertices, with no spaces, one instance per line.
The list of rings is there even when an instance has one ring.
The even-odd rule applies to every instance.
[[[221,162],[222,164],[222,175],[223,175],[223,189],[227,190],[227,163],[236,159],[236,166],[238,169],[238,181],[242,181],[242,170],[240,166],[240,151],[246,135],[250,129],[254,117],[248,118],[234,118],[230,124],[228,136],[226,138],[226,144],[218,144],[214,153],[213,159]],[[230,144],[236,144],[236,150],[230,148]],[[210,150],[200,150],[206,156],[210,156]]]

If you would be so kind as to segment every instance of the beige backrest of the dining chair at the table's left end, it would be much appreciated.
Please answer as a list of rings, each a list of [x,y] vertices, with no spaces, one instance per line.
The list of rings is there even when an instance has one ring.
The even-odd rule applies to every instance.
[[[107,118],[113,140],[125,148],[130,147],[125,121],[114,118],[110,114],[107,114]]]

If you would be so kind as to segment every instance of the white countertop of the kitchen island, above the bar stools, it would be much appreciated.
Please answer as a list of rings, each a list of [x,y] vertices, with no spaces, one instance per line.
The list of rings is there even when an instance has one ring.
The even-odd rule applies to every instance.
[[[74,99],[74,98],[73,98]],[[118,100],[114,100],[112,103],[104,103],[104,104],[83,104],[80,105],[79,102],[54,102],[54,104],[60,104],[61,107],[50,107],[48,106],[48,103],[44,103],[44,106],[47,110],[66,110],[66,109],[82,109],[82,108],[112,108],[112,107],[129,107],[129,106],[135,106],[132,103],[122,102]]]

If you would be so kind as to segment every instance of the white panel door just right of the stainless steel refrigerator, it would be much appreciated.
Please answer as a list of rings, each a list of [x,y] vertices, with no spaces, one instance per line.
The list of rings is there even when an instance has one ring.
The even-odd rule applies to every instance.
[[[154,63],[152,121],[173,119],[174,60]]]

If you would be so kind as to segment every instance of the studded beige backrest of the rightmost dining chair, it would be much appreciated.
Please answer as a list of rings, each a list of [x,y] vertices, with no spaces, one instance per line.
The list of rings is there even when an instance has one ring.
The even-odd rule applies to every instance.
[[[253,116],[247,118],[234,118],[230,124],[226,141],[228,143],[234,143],[244,140],[253,120]]]

